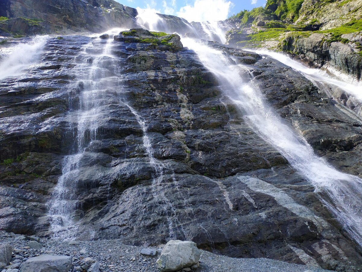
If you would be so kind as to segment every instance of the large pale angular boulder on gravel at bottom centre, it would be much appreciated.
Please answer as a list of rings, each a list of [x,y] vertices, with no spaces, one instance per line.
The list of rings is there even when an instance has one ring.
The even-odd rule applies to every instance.
[[[164,247],[156,261],[162,272],[177,271],[184,267],[197,264],[201,251],[191,241],[171,240]]]

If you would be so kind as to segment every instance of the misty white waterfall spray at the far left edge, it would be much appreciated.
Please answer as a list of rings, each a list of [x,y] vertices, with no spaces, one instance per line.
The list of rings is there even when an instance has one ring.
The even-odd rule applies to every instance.
[[[35,36],[29,42],[1,48],[0,79],[21,75],[24,69],[35,64],[49,39],[48,35]]]

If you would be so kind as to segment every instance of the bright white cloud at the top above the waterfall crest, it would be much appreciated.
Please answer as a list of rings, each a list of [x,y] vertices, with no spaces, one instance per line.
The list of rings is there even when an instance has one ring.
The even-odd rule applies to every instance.
[[[195,0],[193,5],[186,4],[180,8],[177,16],[189,22],[222,21],[227,18],[233,6],[234,4],[227,0]]]

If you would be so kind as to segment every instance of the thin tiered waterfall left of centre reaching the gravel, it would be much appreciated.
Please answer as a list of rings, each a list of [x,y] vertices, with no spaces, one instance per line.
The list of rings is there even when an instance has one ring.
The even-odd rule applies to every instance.
[[[98,38],[76,57],[82,61],[77,66],[77,81],[73,86],[75,102],[70,99],[68,114],[68,121],[76,123],[72,133],[75,135],[73,153],[63,159],[62,176],[52,193],[49,210],[51,231],[55,237],[71,239],[75,235],[77,226],[73,218],[78,206],[78,187],[81,186],[80,167],[87,164],[89,152],[86,148],[98,139],[98,129],[106,118],[102,110],[108,103],[109,88],[121,80],[117,75],[116,59],[111,55],[112,42],[113,38],[106,41]],[[101,46],[104,48],[99,52]]]

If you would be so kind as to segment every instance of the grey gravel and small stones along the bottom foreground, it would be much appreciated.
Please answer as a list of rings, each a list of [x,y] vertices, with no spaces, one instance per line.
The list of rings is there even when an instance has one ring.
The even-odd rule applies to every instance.
[[[158,272],[156,260],[162,247],[155,247],[156,256],[144,256],[140,254],[142,247],[128,246],[120,240],[96,240],[96,241],[72,241],[40,239],[43,246],[40,249],[30,248],[28,244],[37,237],[22,236],[9,232],[0,232],[0,244],[10,244],[13,248],[12,264],[1,272],[18,272],[21,263],[30,257],[43,254],[66,255],[72,257],[70,271],[89,271],[90,266],[96,262],[100,264],[100,271],[150,271]],[[238,259],[222,255],[216,255],[208,251],[202,251],[200,266],[193,271],[198,272],[323,272],[327,271],[306,265],[290,264],[270,259]],[[13,270],[9,270],[13,269]],[[188,269],[183,270],[188,271]]]

